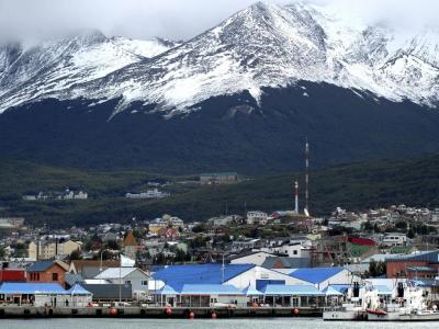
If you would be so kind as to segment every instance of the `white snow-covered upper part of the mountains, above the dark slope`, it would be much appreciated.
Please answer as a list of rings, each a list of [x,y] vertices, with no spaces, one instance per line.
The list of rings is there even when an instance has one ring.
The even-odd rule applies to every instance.
[[[83,97],[122,98],[114,114],[140,101],[172,115],[195,111],[192,105],[211,97],[245,90],[260,102],[263,87],[301,80],[434,106],[439,95],[438,41],[434,30],[401,36],[384,25],[345,21],[320,5],[258,2],[171,49],[160,41],[123,38],[75,52],[64,43],[50,52],[41,46],[31,60],[21,64],[20,57],[16,68],[0,73],[0,112],[38,98]],[[66,47],[71,50],[67,57],[61,56]],[[0,68],[5,63],[1,56]],[[45,69],[29,69],[29,75],[34,61]],[[13,92],[10,72],[24,83]]]

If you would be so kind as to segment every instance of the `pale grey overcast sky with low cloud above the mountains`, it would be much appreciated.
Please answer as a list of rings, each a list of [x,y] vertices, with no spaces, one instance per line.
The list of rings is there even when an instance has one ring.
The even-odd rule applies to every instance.
[[[268,0],[291,3],[296,0]],[[393,24],[439,21],[439,0],[308,0],[346,16]],[[255,0],[0,0],[0,39],[35,41],[78,29],[106,35],[187,39]]]

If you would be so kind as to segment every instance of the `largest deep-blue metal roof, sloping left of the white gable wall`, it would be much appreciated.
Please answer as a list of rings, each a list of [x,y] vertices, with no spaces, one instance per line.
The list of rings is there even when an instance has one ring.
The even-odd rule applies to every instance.
[[[222,284],[222,264],[171,265],[157,271],[154,279],[180,290],[184,284]],[[255,268],[254,264],[226,264],[224,282]]]

